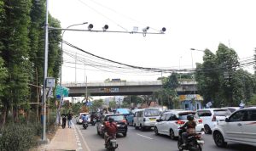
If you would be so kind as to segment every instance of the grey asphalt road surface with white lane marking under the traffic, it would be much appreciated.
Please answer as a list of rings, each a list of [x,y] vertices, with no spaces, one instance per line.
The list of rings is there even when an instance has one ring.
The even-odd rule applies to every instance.
[[[104,148],[104,139],[96,134],[96,126],[89,126],[86,130],[82,125],[75,125],[79,133],[79,139],[83,148],[89,151],[106,151]],[[204,151],[256,151],[256,147],[229,144],[227,148],[218,148],[212,135],[204,135],[205,145]],[[135,130],[133,126],[129,126],[126,137],[121,134],[117,136],[119,148],[117,151],[178,151],[177,140],[171,140],[165,136],[155,136],[154,131]]]

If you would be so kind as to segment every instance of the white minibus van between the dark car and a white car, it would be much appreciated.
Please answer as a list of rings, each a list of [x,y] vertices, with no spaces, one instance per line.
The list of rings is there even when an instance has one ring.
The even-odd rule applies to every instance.
[[[160,109],[147,108],[137,110],[133,117],[133,126],[142,131],[146,128],[154,127],[156,120],[160,119]]]

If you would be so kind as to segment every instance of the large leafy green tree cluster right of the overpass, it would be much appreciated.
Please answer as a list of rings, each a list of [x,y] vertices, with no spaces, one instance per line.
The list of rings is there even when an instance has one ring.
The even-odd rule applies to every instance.
[[[255,92],[255,78],[239,66],[236,51],[220,43],[216,54],[206,50],[203,63],[196,65],[195,79],[204,104],[238,106]]]

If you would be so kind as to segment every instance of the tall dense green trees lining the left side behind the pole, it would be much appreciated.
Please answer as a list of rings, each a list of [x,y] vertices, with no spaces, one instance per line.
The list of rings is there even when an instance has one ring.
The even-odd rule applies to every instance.
[[[43,84],[44,16],[45,1],[0,0],[0,104],[1,108],[6,109],[1,110],[5,113],[36,107],[27,104],[36,102],[39,94],[38,89],[29,87],[29,84]],[[60,21],[51,15],[49,25],[61,27]],[[60,42],[61,31],[49,31],[47,75],[55,77],[55,81],[61,66]],[[50,107],[55,106],[50,103]],[[10,119],[17,121],[18,117]]]

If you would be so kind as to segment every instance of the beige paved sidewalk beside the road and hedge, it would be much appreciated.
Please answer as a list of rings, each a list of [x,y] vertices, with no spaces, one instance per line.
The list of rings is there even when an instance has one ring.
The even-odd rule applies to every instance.
[[[75,129],[61,127],[55,133],[55,137],[50,141],[50,143],[39,147],[40,151],[76,151],[79,150],[77,144],[77,138],[75,136]]]

